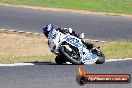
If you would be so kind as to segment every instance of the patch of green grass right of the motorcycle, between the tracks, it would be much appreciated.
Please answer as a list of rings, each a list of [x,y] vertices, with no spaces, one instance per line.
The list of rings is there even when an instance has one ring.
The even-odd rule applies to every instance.
[[[106,59],[132,58],[132,42],[95,43],[101,47]]]

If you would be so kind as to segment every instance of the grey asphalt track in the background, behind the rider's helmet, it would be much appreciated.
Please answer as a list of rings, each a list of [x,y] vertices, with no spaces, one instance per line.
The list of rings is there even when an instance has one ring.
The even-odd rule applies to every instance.
[[[85,33],[85,38],[132,41],[132,18],[84,15],[0,6],[0,28],[42,33],[42,26],[54,24]]]

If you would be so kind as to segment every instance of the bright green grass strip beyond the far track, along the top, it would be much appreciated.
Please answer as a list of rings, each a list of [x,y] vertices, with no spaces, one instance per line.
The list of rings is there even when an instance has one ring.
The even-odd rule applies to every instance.
[[[0,0],[0,3],[132,14],[132,0]]]

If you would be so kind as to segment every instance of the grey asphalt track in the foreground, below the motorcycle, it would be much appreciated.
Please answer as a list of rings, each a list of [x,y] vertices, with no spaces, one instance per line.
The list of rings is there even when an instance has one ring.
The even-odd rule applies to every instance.
[[[131,74],[132,60],[83,65],[89,74]],[[39,63],[34,66],[0,67],[0,88],[132,88],[129,84],[85,84],[76,82],[77,65]]]

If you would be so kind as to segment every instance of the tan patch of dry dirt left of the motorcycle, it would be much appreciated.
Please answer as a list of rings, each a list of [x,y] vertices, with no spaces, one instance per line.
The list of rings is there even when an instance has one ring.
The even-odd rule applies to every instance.
[[[0,57],[51,54],[45,36],[0,30]]]

